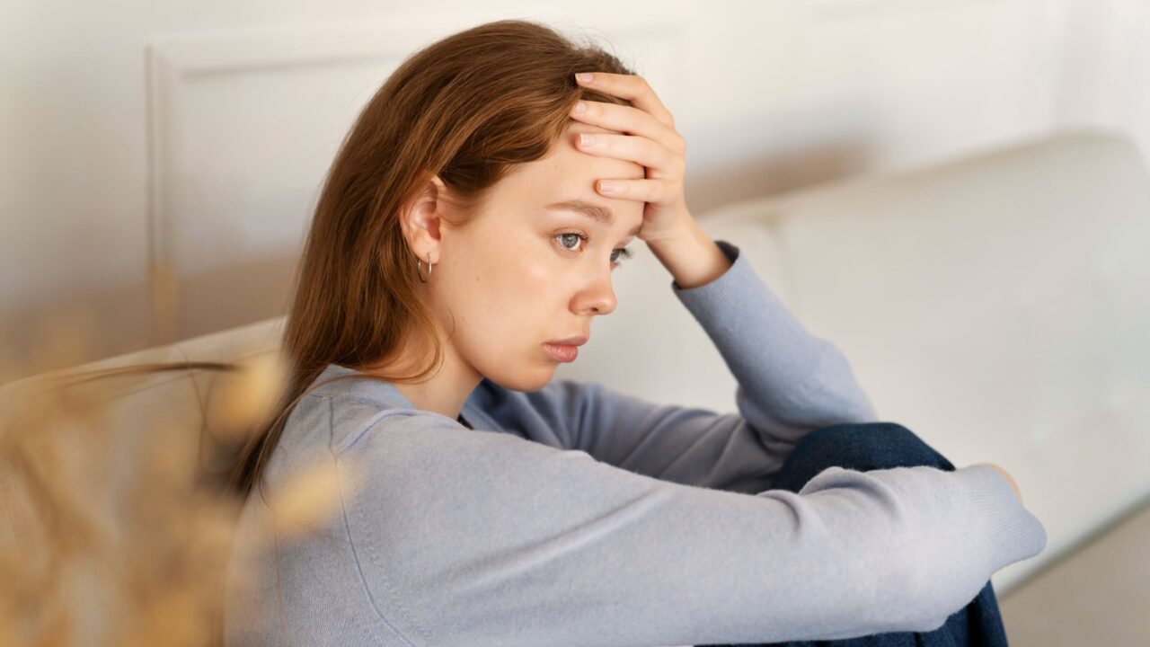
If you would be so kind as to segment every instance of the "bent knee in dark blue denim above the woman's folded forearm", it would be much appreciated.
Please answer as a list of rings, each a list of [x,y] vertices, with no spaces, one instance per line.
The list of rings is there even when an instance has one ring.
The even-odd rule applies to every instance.
[[[946,457],[897,423],[823,427],[804,436],[793,451],[813,454],[828,465],[850,470],[885,470],[914,465],[954,470]]]

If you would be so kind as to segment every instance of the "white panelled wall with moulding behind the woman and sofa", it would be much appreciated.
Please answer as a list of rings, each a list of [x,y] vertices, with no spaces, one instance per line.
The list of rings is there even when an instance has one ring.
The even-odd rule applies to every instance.
[[[0,382],[283,313],[359,107],[402,56],[490,20],[585,30],[634,63],[690,144],[696,214],[1083,123],[1150,151],[1144,0],[428,5],[5,3]],[[37,350],[45,322],[85,321],[70,355]]]

